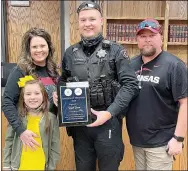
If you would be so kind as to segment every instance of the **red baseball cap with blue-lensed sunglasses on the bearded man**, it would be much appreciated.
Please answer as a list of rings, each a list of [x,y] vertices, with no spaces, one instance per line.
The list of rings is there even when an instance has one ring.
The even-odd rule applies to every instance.
[[[148,29],[153,33],[161,33],[161,25],[155,19],[146,19],[140,22],[137,27],[136,35],[138,35],[138,33],[144,29]]]

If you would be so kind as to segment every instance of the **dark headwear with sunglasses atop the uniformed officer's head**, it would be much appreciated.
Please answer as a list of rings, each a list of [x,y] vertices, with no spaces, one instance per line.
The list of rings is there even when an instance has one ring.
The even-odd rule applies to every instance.
[[[95,2],[88,1],[88,2],[81,3],[80,6],[77,9],[77,13],[79,14],[80,11],[82,11],[84,9],[86,9],[86,10],[87,9],[96,9],[102,14],[99,4],[97,4]]]

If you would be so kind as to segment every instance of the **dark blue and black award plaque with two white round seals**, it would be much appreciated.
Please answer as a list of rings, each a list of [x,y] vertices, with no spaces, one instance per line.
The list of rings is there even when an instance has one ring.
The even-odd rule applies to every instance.
[[[91,123],[89,87],[79,85],[82,85],[82,82],[58,84],[60,126],[85,126]]]

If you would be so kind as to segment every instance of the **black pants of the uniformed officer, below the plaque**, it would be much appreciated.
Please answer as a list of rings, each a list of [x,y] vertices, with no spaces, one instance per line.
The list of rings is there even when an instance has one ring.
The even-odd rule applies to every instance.
[[[122,123],[112,118],[98,127],[74,127],[72,130],[77,171],[118,170],[124,154]]]

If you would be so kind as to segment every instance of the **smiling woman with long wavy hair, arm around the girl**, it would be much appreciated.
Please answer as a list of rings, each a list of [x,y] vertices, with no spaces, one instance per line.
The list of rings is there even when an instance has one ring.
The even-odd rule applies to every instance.
[[[20,88],[17,82],[25,75],[36,76],[45,86],[50,102],[50,112],[55,114],[56,107],[53,104],[52,93],[56,89],[56,80],[59,75],[53,57],[54,48],[49,33],[44,29],[31,28],[23,36],[18,65],[11,71],[5,86],[2,105],[4,115],[17,136],[20,136],[23,145],[30,148],[35,148],[39,144],[33,138],[36,134],[27,130],[19,119],[17,105]]]

